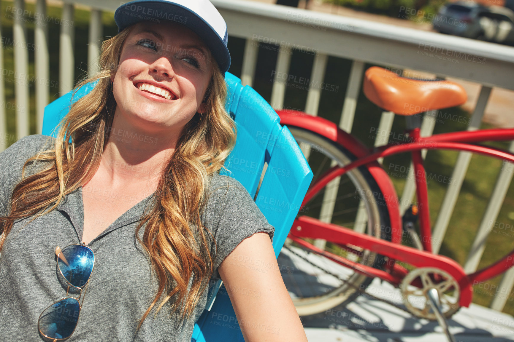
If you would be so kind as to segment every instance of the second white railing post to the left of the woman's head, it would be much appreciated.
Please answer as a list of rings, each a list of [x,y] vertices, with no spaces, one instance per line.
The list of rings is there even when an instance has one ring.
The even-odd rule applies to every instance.
[[[63,5],[62,21],[74,23],[73,4]],[[62,25],[59,46],[59,92],[60,96],[73,89],[75,85],[75,25]]]

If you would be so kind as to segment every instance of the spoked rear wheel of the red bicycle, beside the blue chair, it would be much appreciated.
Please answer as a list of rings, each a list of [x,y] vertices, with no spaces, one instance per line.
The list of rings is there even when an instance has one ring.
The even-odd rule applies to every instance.
[[[309,161],[309,165],[314,173],[314,178],[313,178],[313,181],[311,184],[316,182],[317,176],[319,176],[322,172],[324,172],[324,170],[322,170],[320,172],[319,167],[318,167],[319,166],[318,162],[319,162],[320,158],[323,157],[324,164],[326,164],[326,159],[330,159],[331,162],[335,161],[335,162],[339,163],[339,165],[348,164],[349,162],[357,159],[353,154],[350,153],[350,151],[348,151],[343,146],[339,145],[338,143],[336,143],[326,137],[323,137],[323,136],[317,134],[316,132],[309,131],[309,130],[301,128],[301,127],[295,127],[295,126],[289,126],[289,125],[287,127],[291,131],[292,136],[295,138],[295,140],[301,146],[302,150],[305,149],[306,145],[310,146],[310,147],[308,147],[310,152],[309,152],[307,160]],[[313,149],[313,147],[315,147],[315,148]],[[315,151],[315,155],[317,155],[317,156],[313,155],[313,153],[312,153],[313,150]],[[328,168],[328,167],[326,167],[326,168]],[[343,180],[343,178],[344,178],[344,180]],[[380,196],[381,192],[380,192],[380,188],[379,188],[377,182],[372,177],[372,175],[370,174],[370,172],[366,168],[366,166],[361,166],[359,168],[355,168],[355,169],[351,170],[350,172],[348,172],[347,174],[340,177],[339,184],[337,185],[336,199],[333,201],[334,203],[333,203],[332,212],[334,212],[334,208],[337,205],[344,205],[344,203],[338,204],[337,202],[338,202],[338,199],[340,199],[339,193],[340,192],[344,193],[346,188],[351,188],[351,186],[347,186],[347,185],[344,185],[343,187],[341,187],[341,184],[343,184],[343,183],[348,184],[347,179],[349,179],[351,181],[353,186],[355,186],[356,190],[357,189],[364,190],[364,191],[360,191],[359,195],[361,195],[361,196],[360,196],[360,198],[357,198],[357,202],[359,203],[359,205],[362,206],[362,204],[360,204],[362,195],[366,196],[366,198],[364,199],[365,214],[368,217],[367,222],[366,222],[366,227],[364,227],[366,232],[375,237],[387,239],[390,241],[391,240],[390,231],[388,232],[386,229],[383,229],[383,227],[390,227],[390,220],[389,220],[389,213],[387,210],[387,206],[383,200],[384,197]],[[341,182],[341,180],[343,180],[343,182]],[[331,186],[331,184],[332,184],[332,182],[328,183],[321,192],[323,192],[325,189],[329,188],[329,186]],[[332,185],[334,185],[334,184],[332,184]],[[333,187],[333,188],[335,188],[335,187]],[[316,207],[316,205],[318,204],[318,202],[316,202],[316,201],[319,201],[320,193],[318,193],[308,203],[306,203],[305,208],[307,208],[307,210],[309,210],[309,208],[312,209],[312,208]],[[356,193],[356,191],[355,191],[355,193]],[[323,195],[323,196],[325,196],[325,195]],[[348,194],[343,194],[343,197],[345,198],[345,203],[352,202],[352,201],[347,201],[347,199],[349,199],[350,197],[353,197],[353,203],[356,202],[355,194],[351,193],[350,196],[348,196]],[[325,198],[323,200],[325,200]],[[322,203],[323,203],[323,201],[322,201]],[[329,202],[325,201],[325,203],[329,203]],[[320,214],[321,214],[321,211],[322,210],[320,208]],[[351,213],[351,211],[348,211],[348,209],[346,209],[346,211],[348,213]],[[358,208],[356,209],[356,211],[358,211]],[[307,214],[307,213],[305,213],[304,210],[301,210],[298,213],[298,216],[305,215],[305,214]],[[316,210],[311,211],[311,213],[308,216],[311,216],[311,215],[314,215],[313,217],[315,217],[315,218],[318,218],[318,219],[320,218],[320,216],[318,216],[318,212]],[[334,222],[333,213],[330,217],[330,221],[331,221],[331,223],[336,223],[336,222]],[[356,223],[356,222],[354,222],[354,223]],[[362,222],[361,222],[361,224],[362,224]],[[344,226],[347,226],[347,225],[345,224]],[[354,224],[354,228],[357,226],[358,225]],[[360,226],[360,229],[362,229],[362,226]],[[290,239],[286,240],[286,244],[288,246],[293,246],[293,248],[295,247],[294,246],[295,243],[291,243]],[[325,247],[324,247],[325,250],[328,249],[327,246],[332,251],[334,251],[336,248],[334,246],[334,244],[332,244],[330,242],[325,244]],[[298,248],[297,252],[301,252],[302,249],[300,249],[299,247],[297,247],[297,248]],[[302,253],[307,254],[310,258],[317,260],[319,263],[324,262],[325,265],[327,265],[327,262],[329,261],[332,263],[332,264],[329,264],[329,267],[330,268],[334,267],[333,264],[335,264],[335,262],[332,260],[329,260],[323,256],[320,256],[315,253],[309,253],[309,251],[306,251],[305,249],[303,249]],[[363,264],[372,265],[374,268],[377,268],[377,269],[384,268],[384,258],[382,256],[373,254],[373,252],[371,252],[371,251],[366,252],[363,250],[363,255],[365,253],[368,253],[368,254],[366,254],[367,257],[363,257],[362,259],[367,260],[367,261],[365,261],[365,262],[363,261],[362,262]],[[298,260],[295,261],[291,258],[292,258],[292,254],[288,253],[288,251],[285,248],[283,248],[279,255],[278,261],[279,261],[279,264],[281,265],[282,270],[288,270],[288,272],[282,273],[282,277],[283,277],[284,283],[286,284],[286,288],[289,291],[291,299],[292,299],[293,303],[295,304],[297,312],[300,316],[308,316],[308,315],[318,314],[320,312],[332,309],[337,306],[346,306],[347,303],[352,302],[359,295],[359,291],[357,291],[355,287],[357,287],[361,290],[364,290],[366,287],[368,287],[368,285],[373,280],[372,277],[358,274],[358,273],[356,273],[348,268],[344,268],[342,265],[338,264],[338,267],[336,269],[339,270],[339,268],[344,268],[345,270],[350,271],[350,274],[347,274],[347,271],[344,271],[344,273],[346,273],[346,275],[347,275],[346,281],[351,282],[354,287],[348,286],[348,284],[341,282],[340,286],[328,287],[328,291],[326,291],[324,293],[323,293],[323,291],[320,291],[320,292],[322,292],[320,294],[313,292],[309,296],[304,296],[304,293],[306,291],[304,290],[302,293],[301,289],[298,288],[298,284],[293,283],[293,282],[298,282],[298,280],[295,279],[295,278],[298,278],[298,270],[300,271],[300,275],[302,275],[302,273],[307,275],[304,279],[307,286],[309,286],[311,288],[322,287],[323,284],[319,282],[319,276],[315,276],[313,278],[313,274],[311,274],[312,273],[311,270],[310,271],[307,269],[302,270],[301,268],[298,267]],[[325,260],[321,260],[320,258],[325,259]],[[354,261],[357,261],[357,260],[354,260]],[[288,268],[288,263],[289,263],[289,268]],[[293,274],[293,272],[290,272],[291,270],[297,270],[297,275],[295,276]],[[328,271],[328,270],[325,270],[325,271]],[[341,270],[341,272],[343,272],[343,270]],[[310,281],[310,283],[309,283],[309,281]],[[325,284],[325,285],[327,285],[327,284]],[[299,296],[299,292],[301,294],[301,297]]]

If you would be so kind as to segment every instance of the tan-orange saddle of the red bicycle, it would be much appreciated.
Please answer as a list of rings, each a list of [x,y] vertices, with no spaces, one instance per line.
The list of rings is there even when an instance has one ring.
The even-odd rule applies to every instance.
[[[399,115],[454,107],[467,100],[466,91],[456,83],[408,79],[376,66],[366,70],[363,87],[371,102]]]

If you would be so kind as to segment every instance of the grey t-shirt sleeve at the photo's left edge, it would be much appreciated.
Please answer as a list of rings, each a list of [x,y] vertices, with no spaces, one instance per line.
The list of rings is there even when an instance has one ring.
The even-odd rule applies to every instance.
[[[22,179],[23,164],[32,156],[50,146],[55,138],[43,135],[23,137],[0,153],[0,215],[6,216],[14,186]],[[45,145],[45,142],[48,144]],[[43,148],[46,147],[46,148]],[[25,177],[32,167],[25,168]]]

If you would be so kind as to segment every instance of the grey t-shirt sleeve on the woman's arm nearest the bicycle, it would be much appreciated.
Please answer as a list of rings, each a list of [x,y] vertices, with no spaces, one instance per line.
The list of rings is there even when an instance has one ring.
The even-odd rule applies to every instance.
[[[214,191],[207,205],[207,221],[217,244],[213,276],[219,278],[219,264],[247,237],[268,233],[273,241],[274,227],[255,204],[246,188],[236,179],[216,174]],[[212,246],[214,250],[214,245]]]

